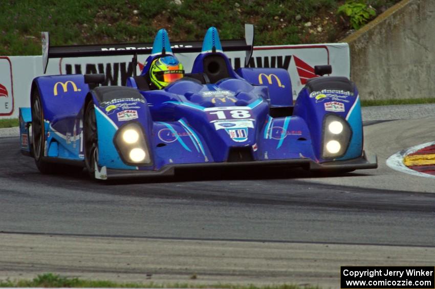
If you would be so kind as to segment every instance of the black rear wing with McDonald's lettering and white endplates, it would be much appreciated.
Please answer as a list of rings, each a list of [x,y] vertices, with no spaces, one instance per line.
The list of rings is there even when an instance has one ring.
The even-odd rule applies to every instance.
[[[153,43],[118,43],[104,45],[69,45],[50,46],[48,32],[41,32],[42,37],[42,70],[47,71],[50,58],[63,57],[92,57],[92,56],[115,56],[150,54]],[[254,42],[254,26],[245,24],[245,39],[222,40],[224,51],[246,51],[246,64],[252,56]],[[201,52],[201,41],[176,41],[171,42],[173,53]]]

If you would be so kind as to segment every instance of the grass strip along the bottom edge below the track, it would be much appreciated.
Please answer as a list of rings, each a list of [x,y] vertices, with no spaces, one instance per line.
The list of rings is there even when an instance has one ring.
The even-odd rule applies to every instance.
[[[159,284],[154,282],[148,283],[118,283],[106,280],[83,280],[79,278],[62,277],[52,273],[38,275],[33,280],[0,280],[0,287],[70,287],[70,288],[229,288],[229,289],[319,289],[313,286],[297,286],[297,285],[269,285],[269,286],[254,286],[254,285],[235,285],[235,284],[188,284],[188,283],[169,283]]]

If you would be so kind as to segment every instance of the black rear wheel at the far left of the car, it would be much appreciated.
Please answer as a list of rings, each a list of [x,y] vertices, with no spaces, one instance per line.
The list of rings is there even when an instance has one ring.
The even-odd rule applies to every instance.
[[[43,160],[45,150],[44,112],[39,92],[35,90],[32,97],[32,149],[36,167],[41,173],[53,173],[55,166]]]

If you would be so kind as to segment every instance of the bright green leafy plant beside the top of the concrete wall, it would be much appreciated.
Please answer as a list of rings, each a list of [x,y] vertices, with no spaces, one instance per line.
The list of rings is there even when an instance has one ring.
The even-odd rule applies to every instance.
[[[338,7],[337,13],[348,16],[352,28],[358,30],[376,15],[376,10],[367,6],[363,0],[347,0],[346,3]]]

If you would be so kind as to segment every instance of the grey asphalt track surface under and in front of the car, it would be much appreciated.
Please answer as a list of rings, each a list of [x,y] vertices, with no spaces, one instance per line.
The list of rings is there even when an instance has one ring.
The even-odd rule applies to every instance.
[[[89,180],[85,172],[42,175],[31,158],[20,154],[17,137],[0,138],[0,242],[6,245],[0,249],[0,278],[49,270],[142,280],[148,270],[156,278],[160,274],[161,280],[180,281],[196,272],[195,265],[186,264],[196,256],[193,264],[199,266],[200,276],[207,276],[203,279],[207,282],[294,281],[336,286],[340,265],[433,265],[435,180],[385,165],[397,151],[433,141],[433,119],[375,117],[364,124],[365,149],[377,153],[379,168],[333,177],[301,169],[195,170],[172,179],[102,184]],[[74,249],[80,256],[97,252],[95,244],[110,251],[114,243],[125,248],[127,244],[121,241],[129,240],[128,246],[138,243],[125,249],[128,252],[157,246],[149,250],[162,252],[156,253],[156,259],[164,264],[151,268],[139,262],[137,270],[127,265],[103,270],[101,262],[94,260],[93,269],[85,270],[55,263],[56,255],[41,264],[45,250],[63,256],[63,247],[56,247],[62,241],[73,250],[83,240],[88,240],[86,246]],[[193,249],[189,242],[194,242]],[[35,255],[29,249],[32,246],[39,246],[41,255]],[[212,254],[219,250],[225,251],[222,256],[233,252],[233,257],[240,254],[240,258]],[[273,252],[280,253],[274,256]],[[257,259],[251,259],[258,264],[240,263],[255,255]],[[128,256],[123,255],[126,263]],[[171,271],[168,264],[176,264],[177,256],[183,256],[180,265]],[[70,254],[69,258],[73,262],[77,256]],[[228,264],[216,267],[222,260],[243,268],[229,273]],[[304,265],[307,270],[291,270]]]

